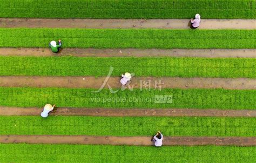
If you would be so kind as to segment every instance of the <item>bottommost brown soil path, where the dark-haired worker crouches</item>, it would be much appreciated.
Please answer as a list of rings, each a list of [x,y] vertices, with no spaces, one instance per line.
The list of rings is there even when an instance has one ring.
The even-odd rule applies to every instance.
[[[151,137],[87,135],[0,135],[1,143],[152,146]],[[164,137],[163,145],[256,146],[255,137]]]

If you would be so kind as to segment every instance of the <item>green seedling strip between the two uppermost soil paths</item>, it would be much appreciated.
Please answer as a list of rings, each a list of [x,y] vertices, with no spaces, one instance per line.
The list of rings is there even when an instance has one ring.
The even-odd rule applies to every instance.
[[[255,48],[255,30],[0,28],[0,47],[48,47],[58,39],[81,48]]]

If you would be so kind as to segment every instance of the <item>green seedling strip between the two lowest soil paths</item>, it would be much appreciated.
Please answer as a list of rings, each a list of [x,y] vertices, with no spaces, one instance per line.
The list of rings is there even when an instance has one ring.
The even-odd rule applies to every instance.
[[[256,136],[256,118],[241,117],[0,116],[0,124],[2,135]]]

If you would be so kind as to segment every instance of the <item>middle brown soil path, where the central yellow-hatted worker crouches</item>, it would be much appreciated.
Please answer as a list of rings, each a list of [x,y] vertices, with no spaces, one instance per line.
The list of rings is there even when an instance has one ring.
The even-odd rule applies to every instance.
[[[4,87],[68,87],[99,89],[106,77],[37,77],[37,76],[0,76],[0,86]],[[105,88],[122,88],[119,77],[110,77]],[[178,78],[178,77],[133,77],[130,87],[136,89],[256,89],[256,79],[250,78]]]

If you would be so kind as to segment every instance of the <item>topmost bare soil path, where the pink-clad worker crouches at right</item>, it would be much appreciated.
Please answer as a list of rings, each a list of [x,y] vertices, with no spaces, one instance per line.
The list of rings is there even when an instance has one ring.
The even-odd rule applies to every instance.
[[[0,18],[1,28],[190,29],[190,19]],[[255,29],[255,19],[201,19],[199,29]]]

